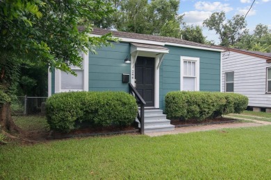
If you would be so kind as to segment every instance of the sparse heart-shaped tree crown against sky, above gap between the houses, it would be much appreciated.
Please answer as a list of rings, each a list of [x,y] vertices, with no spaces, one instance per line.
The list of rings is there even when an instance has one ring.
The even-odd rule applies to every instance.
[[[242,29],[247,26],[245,17],[235,15],[226,21],[225,12],[213,12],[211,17],[204,20],[204,26],[209,30],[215,30],[220,37],[221,46],[233,46],[243,34]]]

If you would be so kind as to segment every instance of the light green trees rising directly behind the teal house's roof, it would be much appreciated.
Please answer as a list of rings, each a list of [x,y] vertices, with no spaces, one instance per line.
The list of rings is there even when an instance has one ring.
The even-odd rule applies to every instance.
[[[94,21],[98,28],[115,28],[124,32],[176,37],[204,44],[199,26],[186,26],[178,15],[179,0],[106,0],[115,8],[110,20]],[[103,24],[104,23],[104,24]]]

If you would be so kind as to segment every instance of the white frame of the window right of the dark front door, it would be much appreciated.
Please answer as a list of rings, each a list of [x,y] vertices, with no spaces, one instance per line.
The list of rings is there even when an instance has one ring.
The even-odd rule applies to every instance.
[[[188,56],[181,56],[181,66],[180,66],[180,72],[181,72],[181,78],[180,78],[180,89],[183,91],[183,77],[192,77],[192,76],[186,76],[183,75],[183,62],[195,62],[195,91],[199,91],[199,57],[188,57]]]

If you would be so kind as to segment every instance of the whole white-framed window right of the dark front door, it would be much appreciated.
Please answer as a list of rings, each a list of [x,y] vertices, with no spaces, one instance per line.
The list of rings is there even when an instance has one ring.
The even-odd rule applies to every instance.
[[[181,91],[199,91],[198,57],[181,57]]]

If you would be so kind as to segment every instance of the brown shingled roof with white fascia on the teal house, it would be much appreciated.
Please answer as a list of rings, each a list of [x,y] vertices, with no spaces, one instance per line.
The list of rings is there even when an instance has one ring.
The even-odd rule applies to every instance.
[[[83,26],[78,27],[79,30],[83,30]],[[171,45],[171,46],[184,46],[188,48],[202,48],[206,50],[211,51],[224,51],[223,48],[220,46],[211,46],[206,44],[200,44],[197,42],[189,42],[183,39],[178,39],[175,37],[163,37],[158,35],[143,35],[138,33],[127,33],[117,30],[107,30],[107,29],[101,29],[101,28],[93,28],[92,35],[105,35],[107,33],[112,33],[114,37],[120,37],[120,39],[138,39],[143,41],[149,41],[149,42],[138,42],[142,44],[151,44],[150,42],[161,42],[163,45]],[[132,42],[132,41],[131,41]]]

